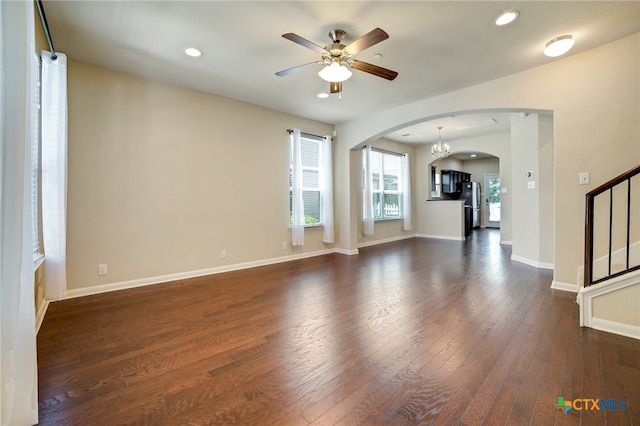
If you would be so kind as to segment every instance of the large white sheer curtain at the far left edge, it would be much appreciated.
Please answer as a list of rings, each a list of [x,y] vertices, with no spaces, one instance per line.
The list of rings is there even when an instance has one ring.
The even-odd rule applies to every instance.
[[[33,2],[0,2],[0,424],[38,422],[31,142]]]

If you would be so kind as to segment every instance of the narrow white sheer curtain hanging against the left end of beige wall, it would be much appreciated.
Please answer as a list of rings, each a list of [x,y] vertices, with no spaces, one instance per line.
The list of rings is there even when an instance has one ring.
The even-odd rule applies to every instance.
[[[42,52],[42,237],[44,296],[67,288],[67,57]]]

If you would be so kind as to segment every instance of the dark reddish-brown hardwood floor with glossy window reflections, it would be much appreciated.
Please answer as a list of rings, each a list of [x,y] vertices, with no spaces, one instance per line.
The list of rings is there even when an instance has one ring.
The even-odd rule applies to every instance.
[[[498,240],[411,239],[52,303],[40,424],[640,424],[640,341],[580,328],[575,295]],[[565,415],[558,397],[626,408]]]

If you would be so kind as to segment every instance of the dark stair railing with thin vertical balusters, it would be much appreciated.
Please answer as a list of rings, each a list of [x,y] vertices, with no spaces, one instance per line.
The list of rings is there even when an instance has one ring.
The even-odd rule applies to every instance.
[[[640,195],[640,190],[636,189],[635,193],[631,190],[631,179],[640,174],[640,165],[634,167],[629,170],[611,179],[609,182],[606,182],[594,190],[590,191],[586,195],[586,209],[585,209],[585,243],[584,243],[584,287],[588,287],[592,284],[597,284],[599,282],[624,275],[627,272],[635,271],[640,269],[640,265],[630,266],[630,245],[631,245],[631,200],[632,194],[635,196]],[[611,252],[613,245],[613,191],[614,188],[618,185],[622,185],[623,183],[627,183],[627,224],[626,224],[626,232],[627,232],[627,241],[626,241],[626,267],[625,269],[617,272],[612,272],[611,270]],[[594,243],[594,206],[595,199],[598,195],[601,195],[605,192],[609,192],[609,256],[608,256],[608,271],[604,277],[598,278],[594,281],[593,279],[593,243]]]

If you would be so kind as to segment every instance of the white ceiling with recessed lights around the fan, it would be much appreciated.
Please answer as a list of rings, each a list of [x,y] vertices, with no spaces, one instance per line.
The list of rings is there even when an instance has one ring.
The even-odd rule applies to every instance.
[[[547,41],[572,34],[575,54],[640,31],[639,1],[52,1],[44,8],[58,52],[144,78],[237,99],[327,123],[451,92],[549,63]],[[520,18],[494,25],[506,10]],[[342,99],[314,69],[275,72],[320,59],[281,37],[318,45],[344,29],[350,41],[380,27],[389,39],[355,59],[395,70],[387,81],[354,70]],[[194,46],[204,55],[187,57]],[[373,55],[382,54],[380,59]],[[494,118],[494,125],[477,125]],[[475,123],[475,124],[474,124]],[[508,129],[508,114],[447,117],[388,135],[433,142]],[[461,129],[466,127],[466,129]],[[402,134],[412,133],[412,138]]]

